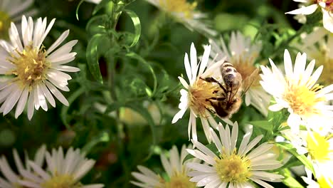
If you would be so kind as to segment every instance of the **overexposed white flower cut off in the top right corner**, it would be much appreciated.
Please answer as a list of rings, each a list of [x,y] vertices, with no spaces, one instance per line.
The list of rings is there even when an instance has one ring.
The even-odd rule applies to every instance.
[[[286,12],[285,14],[310,15],[317,10],[322,9],[322,22],[324,28],[333,33],[333,1],[327,0],[293,0],[301,3],[300,9]],[[303,19],[304,20],[304,19]]]

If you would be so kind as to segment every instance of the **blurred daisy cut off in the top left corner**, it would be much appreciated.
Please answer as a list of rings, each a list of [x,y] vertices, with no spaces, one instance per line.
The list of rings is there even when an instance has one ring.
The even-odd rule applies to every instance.
[[[33,0],[1,0],[0,1],[0,38],[8,37],[11,22],[20,21],[21,16],[33,16],[36,9],[30,9]]]

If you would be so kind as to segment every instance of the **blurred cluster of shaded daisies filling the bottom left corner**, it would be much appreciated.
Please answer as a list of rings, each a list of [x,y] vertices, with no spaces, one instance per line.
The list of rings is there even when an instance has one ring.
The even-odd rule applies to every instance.
[[[33,188],[59,188],[59,187],[104,187],[103,184],[83,185],[80,183],[85,174],[93,168],[95,160],[88,160],[85,154],[73,147],[67,152],[63,148],[46,151],[46,146],[40,147],[35,155],[35,160],[29,160],[26,156],[26,166],[18,156],[18,152],[13,150],[14,161],[18,169],[16,174],[6,157],[0,160],[0,172],[6,179],[0,179],[0,187],[33,187]],[[44,162],[46,167],[44,168]]]

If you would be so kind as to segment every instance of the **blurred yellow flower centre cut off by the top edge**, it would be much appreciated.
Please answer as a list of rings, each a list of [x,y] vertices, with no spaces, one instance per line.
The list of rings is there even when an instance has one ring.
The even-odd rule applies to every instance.
[[[197,3],[189,4],[186,0],[159,0],[159,4],[169,13],[184,14],[186,19],[192,19]]]

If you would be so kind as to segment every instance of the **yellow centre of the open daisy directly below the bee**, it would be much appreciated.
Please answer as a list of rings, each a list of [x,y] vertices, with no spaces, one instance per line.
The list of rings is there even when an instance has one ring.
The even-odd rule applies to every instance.
[[[248,182],[251,162],[246,157],[236,155],[236,150],[229,156],[220,155],[215,161],[215,169],[222,182]]]

